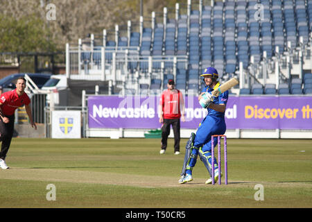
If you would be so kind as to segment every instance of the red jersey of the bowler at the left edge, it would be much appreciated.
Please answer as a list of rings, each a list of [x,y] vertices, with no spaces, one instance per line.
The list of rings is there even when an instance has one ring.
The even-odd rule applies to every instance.
[[[21,96],[17,95],[16,89],[8,92],[3,92],[0,96],[1,110],[3,115],[12,116],[15,110],[22,105],[31,103],[31,99],[24,92]]]

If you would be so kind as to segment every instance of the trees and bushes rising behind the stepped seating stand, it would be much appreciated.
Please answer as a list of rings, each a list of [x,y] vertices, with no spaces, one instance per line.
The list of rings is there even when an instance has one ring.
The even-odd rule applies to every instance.
[[[145,19],[152,11],[162,14],[164,6],[174,8],[176,2],[187,0],[144,0]],[[55,20],[46,19],[48,3],[55,5]],[[0,52],[64,51],[67,42],[78,44],[89,33],[114,31],[116,24],[126,26],[128,20],[139,23],[139,4],[140,0],[3,0]]]

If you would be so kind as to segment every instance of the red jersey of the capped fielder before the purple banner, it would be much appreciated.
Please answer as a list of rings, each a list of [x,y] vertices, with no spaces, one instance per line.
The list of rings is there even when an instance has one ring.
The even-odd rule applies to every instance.
[[[160,96],[159,105],[162,106],[164,119],[179,119],[180,108],[184,106],[182,92],[177,89],[166,89]]]

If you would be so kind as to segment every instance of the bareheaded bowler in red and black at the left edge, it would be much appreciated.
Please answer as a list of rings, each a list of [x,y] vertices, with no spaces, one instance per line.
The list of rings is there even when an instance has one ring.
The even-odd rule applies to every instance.
[[[26,87],[26,79],[21,77],[17,79],[16,89],[1,94],[0,98],[0,140],[1,151],[0,151],[0,167],[2,169],[8,169],[4,161],[6,154],[10,148],[11,139],[14,131],[14,120],[15,110],[22,105],[25,105],[26,113],[31,126],[37,130],[36,124],[33,122],[33,115],[31,114],[31,99],[24,92]]]

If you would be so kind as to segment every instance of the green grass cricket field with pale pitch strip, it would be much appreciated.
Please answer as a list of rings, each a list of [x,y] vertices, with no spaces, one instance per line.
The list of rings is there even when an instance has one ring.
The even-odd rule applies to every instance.
[[[173,139],[12,139],[0,207],[312,207],[312,140],[228,139],[229,185],[205,185],[198,157],[180,185]],[[224,182],[224,177],[223,177]],[[56,200],[46,200],[56,187]],[[264,200],[255,200],[264,187]]]

